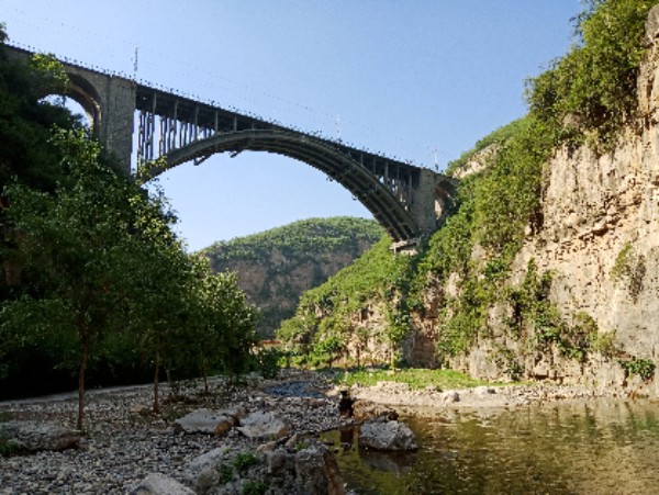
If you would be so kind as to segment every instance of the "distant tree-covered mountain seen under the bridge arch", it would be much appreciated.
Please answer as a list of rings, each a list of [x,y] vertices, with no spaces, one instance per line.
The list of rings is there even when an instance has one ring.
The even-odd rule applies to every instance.
[[[350,265],[383,235],[372,220],[311,218],[215,243],[201,252],[213,271],[238,273],[238,285],[261,310],[258,331],[267,338],[294,314],[304,291]]]

